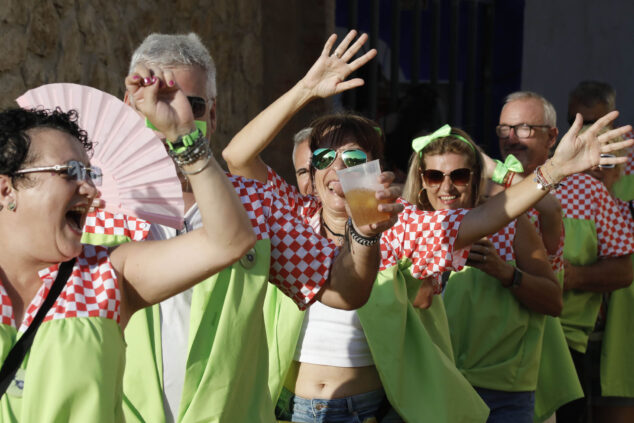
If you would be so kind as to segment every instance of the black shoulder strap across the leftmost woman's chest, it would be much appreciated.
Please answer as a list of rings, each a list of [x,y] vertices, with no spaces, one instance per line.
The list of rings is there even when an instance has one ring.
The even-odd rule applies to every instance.
[[[15,377],[15,373],[18,371],[20,364],[22,364],[22,361],[24,360],[24,356],[31,348],[31,345],[33,344],[33,339],[35,338],[35,333],[40,327],[40,323],[42,323],[44,317],[46,317],[46,313],[48,313],[48,310],[53,306],[53,303],[55,303],[55,300],[62,292],[64,285],[66,285],[66,281],[73,271],[75,260],[76,259],[73,258],[72,260],[66,261],[61,264],[61,266],[59,267],[59,271],[57,272],[55,282],[53,282],[51,290],[46,296],[42,307],[40,307],[40,309],[37,311],[37,314],[35,315],[35,318],[33,318],[33,321],[31,322],[29,327],[26,329],[18,342],[15,343],[13,348],[11,348],[11,351],[9,351],[9,354],[4,360],[4,363],[2,363],[2,368],[0,369],[0,398],[2,398],[4,393],[11,385],[11,382]]]

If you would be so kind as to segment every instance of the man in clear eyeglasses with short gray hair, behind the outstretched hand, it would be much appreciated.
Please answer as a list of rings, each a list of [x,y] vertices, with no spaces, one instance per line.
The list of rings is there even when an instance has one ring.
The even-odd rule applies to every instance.
[[[496,133],[502,155],[515,155],[524,167],[523,176],[535,177],[548,159],[557,141],[556,121],[553,105],[539,94],[521,91],[506,97]],[[560,319],[583,383],[588,365],[585,353],[599,315],[602,293],[629,286],[634,247],[614,200],[594,178],[572,175],[562,181],[554,194],[562,205],[566,234],[564,308]],[[557,380],[556,375],[551,378]],[[559,408],[557,421],[577,422],[584,411],[584,399],[572,401]]]

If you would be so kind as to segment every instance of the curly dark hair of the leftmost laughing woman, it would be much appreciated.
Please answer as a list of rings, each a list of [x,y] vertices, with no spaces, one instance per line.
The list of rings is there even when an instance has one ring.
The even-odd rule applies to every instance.
[[[0,112],[0,174],[9,175],[15,183],[26,175],[15,172],[33,160],[29,155],[31,138],[27,131],[35,128],[57,129],[72,135],[84,147],[92,151],[88,134],[78,125],[76,110],[63,112],[60,108],[21,109],[12,108]]]

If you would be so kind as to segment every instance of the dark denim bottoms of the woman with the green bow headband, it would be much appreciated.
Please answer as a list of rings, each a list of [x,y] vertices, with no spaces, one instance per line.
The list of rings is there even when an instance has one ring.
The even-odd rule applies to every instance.
[[[474,388],[491,409],[487,423],[533,423],[535,391],[508,392]]]

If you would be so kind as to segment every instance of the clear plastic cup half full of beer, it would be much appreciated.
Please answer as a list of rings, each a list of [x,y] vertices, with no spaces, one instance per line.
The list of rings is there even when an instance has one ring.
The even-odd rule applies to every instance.
[[[383,189],[383,185],[379,183],[380,174],[381,165],[378,160],[337,171],[352,220],[357,226],[390,218],[389,213],[378,210],[380,202],[376,199],[376,191]]]

